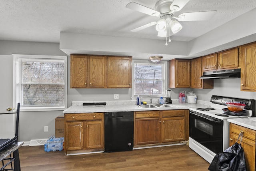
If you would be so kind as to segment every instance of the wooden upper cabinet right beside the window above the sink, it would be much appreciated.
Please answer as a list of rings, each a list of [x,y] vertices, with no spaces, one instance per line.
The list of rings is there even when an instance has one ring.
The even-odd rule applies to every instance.
[[[169,88],[190,87],[190,60],[169,61]]]

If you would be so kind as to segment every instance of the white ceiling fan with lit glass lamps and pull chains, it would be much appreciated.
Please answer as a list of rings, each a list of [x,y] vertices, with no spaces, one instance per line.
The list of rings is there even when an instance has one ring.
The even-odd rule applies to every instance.
[[[135,28],[131,30],[131,32],[138,32],[150,26],[156,25],[158,36],[166,37],[165,45],[167,46],[167,31],[169,30],[168,42],[171,42],[170,36],[179,32],[182,29],[182,25],[178,21],[210,20],[216,13],[216,11],[187,12],[180,14],[179,16],[175,16],[175,12],[180,11],[189,1],[190,0],[159,0],[158,2],[156,2],[155,5],[156,10],[137,4],[136,2],[130,2],[126,5],[126,8],[130,8],[132,10],[142,12],[150,16],[160,17],[160,20],[150,22],[148,24]]]

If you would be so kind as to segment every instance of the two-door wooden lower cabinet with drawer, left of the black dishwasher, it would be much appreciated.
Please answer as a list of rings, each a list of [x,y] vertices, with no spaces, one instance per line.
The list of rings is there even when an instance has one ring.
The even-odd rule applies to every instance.
[[[104,113],[68,113],[65,118],[65,151],[104,148]]]

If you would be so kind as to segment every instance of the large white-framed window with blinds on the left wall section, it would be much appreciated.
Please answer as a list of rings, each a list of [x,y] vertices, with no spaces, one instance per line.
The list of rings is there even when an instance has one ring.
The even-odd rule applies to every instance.
[[[14,74],[14,103],[22,111],[66,108],[66,56],[14,55]]]

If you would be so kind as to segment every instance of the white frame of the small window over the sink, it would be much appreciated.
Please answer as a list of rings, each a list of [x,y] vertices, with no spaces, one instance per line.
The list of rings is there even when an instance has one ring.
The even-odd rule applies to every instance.
[[[151,62],[150,60],[132,60],[132,97],[131,99],[136,99],[137,98],[137,94],[135,94],[135,79],[134,79],[134,67],[135,67],[135,63],[142,63],[142,64],[154,64],[153,62]],[[167,61],[163,61],[161,60],[160,62],[158,62],[157,64],[162,64],[163,65],[163,78],[164,78],[164,89],[166,90],[168,88],[168,62]],[[139,95],[140,97],[144,97],[144,98],[154,98],[154,97],[161,97],[161,95]],[[163,97],[166,97],[166,91],[164,91],[163,93]]]

